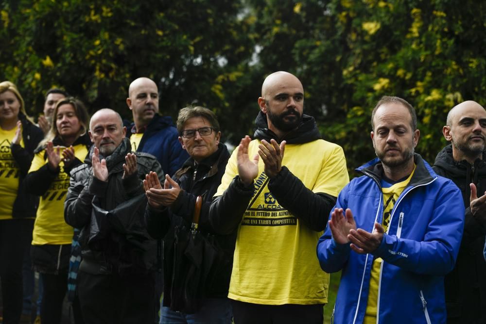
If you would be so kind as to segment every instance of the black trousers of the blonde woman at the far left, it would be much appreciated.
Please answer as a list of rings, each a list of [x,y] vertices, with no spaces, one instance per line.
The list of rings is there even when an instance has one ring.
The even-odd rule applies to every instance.
[[[15,323],[22,313],[22,263],[30,247],[34,219],[0,220],[0,278],[3,324]]]

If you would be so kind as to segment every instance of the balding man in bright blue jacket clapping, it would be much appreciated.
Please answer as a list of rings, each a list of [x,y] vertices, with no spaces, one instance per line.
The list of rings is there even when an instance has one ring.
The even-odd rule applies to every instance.
[[[444,275],[464,226],[461,193],[414,153],[420,131],[407,101],[382,97],[371,126],[378,158],[341,191],[317,245],[322,269],[342,271],[334,322],[445,323]]]

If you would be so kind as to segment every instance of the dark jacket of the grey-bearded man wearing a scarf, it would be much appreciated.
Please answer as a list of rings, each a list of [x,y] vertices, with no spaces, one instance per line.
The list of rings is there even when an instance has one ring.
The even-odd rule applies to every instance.
[[[156,158],[136,152],[137,174],[122,179],[125,156],[131,152],[128,138],[106,158],[108,181],[93,177],[92,152],[85,163],[71,171],[64,203],[66,223],[82,228],[80,270],[90,274],[146,274],[156,268],[156,241],[145,229],[147,200],[142,180],[150,171],[163,172]]]

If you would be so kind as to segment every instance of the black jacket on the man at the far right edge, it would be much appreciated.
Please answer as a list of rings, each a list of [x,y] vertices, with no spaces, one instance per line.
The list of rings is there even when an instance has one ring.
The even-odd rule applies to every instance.
[[[473,182],[478,196],[486,191],[486,154],[473,164],[466,160],[456,162],[452,146],[444,147],[434,162],[434,171],[451,179],[461,190],[466,215],[464,235],[454,269],[445,277],[448,323],[486,323],[486,261],[483,257],[486,222],[471,215],[470,187]]]

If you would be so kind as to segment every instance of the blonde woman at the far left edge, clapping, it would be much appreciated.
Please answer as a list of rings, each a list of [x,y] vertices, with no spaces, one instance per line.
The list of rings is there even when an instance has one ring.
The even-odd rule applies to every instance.
[[[18,323],[22,312],[22,261],[32,238],[36,197],[26,194],[23,179],[42,140],[25,113],[14,83],[0,82],[0,279],[3,323]]]

